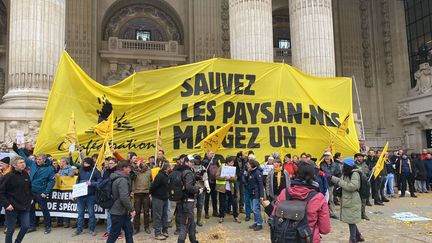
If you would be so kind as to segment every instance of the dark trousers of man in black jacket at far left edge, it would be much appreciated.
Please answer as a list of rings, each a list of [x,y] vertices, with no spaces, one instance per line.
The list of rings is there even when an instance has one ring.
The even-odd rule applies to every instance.
[[[15,239],[16,243],[20,243],[25,234],[27,233],[27,230],[30,226],[30,212],[29,210],[22,211],[22,210],[13,210],[13,211],[5,211],[6,213],[6,238],[5,243],[12,243],[12,236],[15,231],[15,224],[17,219],[20,220],[21,229],[18,233],[17,238]]]

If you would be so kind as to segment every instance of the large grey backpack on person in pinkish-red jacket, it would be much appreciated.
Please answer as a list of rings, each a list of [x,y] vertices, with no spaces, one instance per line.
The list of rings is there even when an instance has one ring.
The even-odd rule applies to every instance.
[[[279,202],[276,214],[269,220],[272,243],[313,242],[314,229],[309,227],[307,204],[316,194],[312,191],[305,200],[297,200],[286,190],[286,200]]]

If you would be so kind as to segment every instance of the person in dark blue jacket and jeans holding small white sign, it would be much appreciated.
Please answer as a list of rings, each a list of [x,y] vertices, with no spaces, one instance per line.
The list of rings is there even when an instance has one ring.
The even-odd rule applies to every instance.
[[[74,236],[82,234],[84,228],[84,213],[86,209],[89,215],[89,233],[92,236],[96,236],[96,217],[94,212],[95,189],[101,181],[102,177],[99,170],[96,169],[94,160],[92,158],[85,158],[83,160],[83,166],[78,172],[76,184],[87,183],[88,194],[77,199],[78,220],[76,231],[73,234]]]

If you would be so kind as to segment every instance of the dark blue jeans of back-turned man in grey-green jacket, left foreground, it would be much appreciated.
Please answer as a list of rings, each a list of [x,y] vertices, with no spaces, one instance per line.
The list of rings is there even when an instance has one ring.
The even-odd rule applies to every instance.
[[[133,227],[129,215],[111,215],[112,227],[106,243],[114,243],[123,229],[126,243],[133,243]]]

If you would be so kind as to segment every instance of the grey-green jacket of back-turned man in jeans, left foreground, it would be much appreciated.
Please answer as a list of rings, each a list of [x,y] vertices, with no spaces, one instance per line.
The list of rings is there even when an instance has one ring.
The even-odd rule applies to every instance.
[[[112,195],[114,204],[110,208],[111,215],[128,215],[130,212],[135,211],[131,194],[131,181],[129,175],[120,171],[116,171],[110,176],[112,183]]]

